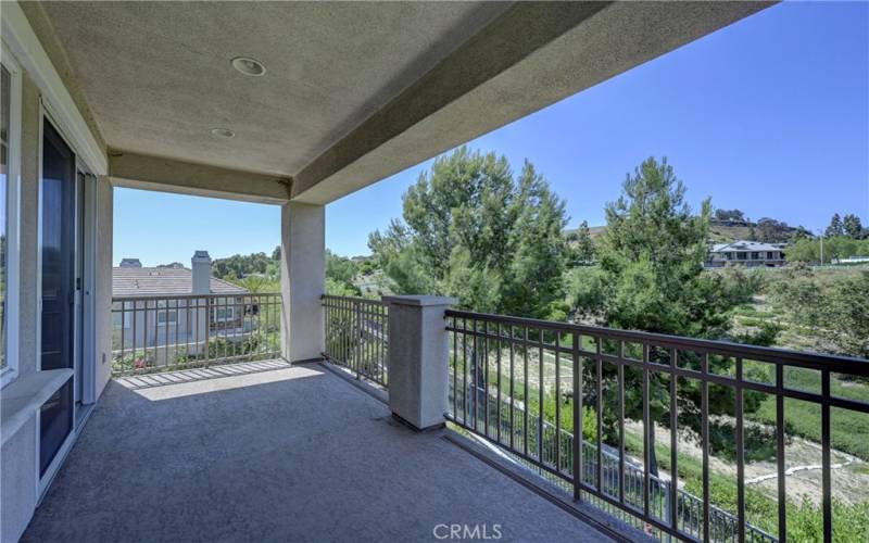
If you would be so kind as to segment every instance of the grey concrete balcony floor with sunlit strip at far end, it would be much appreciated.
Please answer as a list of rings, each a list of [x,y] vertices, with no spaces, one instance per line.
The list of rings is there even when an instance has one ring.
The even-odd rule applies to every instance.
[[[23,541],[609,541],[318,364],[112,381]]]

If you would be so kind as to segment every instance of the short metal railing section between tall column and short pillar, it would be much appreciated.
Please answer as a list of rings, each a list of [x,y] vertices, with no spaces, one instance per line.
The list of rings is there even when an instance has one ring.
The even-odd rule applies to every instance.
[[[389,308],[380,300],[323,295],[329,362],[388,384]]]

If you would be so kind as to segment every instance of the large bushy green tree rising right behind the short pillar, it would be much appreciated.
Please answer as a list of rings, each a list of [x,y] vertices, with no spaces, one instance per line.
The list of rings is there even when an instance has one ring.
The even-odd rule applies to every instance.
[[[445,294],[475,311],[546,317],[562,299],[564,202],[526,162],[461,148],[402,198],[403,222],[368,238],[403,294]]]

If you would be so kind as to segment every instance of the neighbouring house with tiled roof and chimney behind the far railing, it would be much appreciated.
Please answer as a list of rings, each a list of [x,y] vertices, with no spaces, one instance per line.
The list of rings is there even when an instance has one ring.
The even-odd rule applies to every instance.
[[[204,346],[205,333],[235,329],[234,340],[242,341],[251,331],[245,311],[255,304],[247,289],[212,277],[211,264],[207,251],[197,251],[190,269],[142,267],[138,258],[124,258],[112,268],[113,354],[156,348],[151,362],[162,365],[167,351],[159,348],[184,345],[189,353],[190,346]],[[201,307],[205,301],[207,308]]]

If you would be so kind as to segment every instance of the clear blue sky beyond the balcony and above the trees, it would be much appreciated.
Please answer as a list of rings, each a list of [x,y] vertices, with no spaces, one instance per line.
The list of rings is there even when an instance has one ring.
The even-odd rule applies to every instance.
[[[530,160],[567,201],[570,227],[603,224],[651,155],[669,159],[695,207],[711,197],[815,230],[834,212],[868,224],[869,3],[772,7],[468,144],[514,168]],[[401,194],[429,165],[327,206],[327,247],[367,254],[368,232],[401,216]],[[118,189],[115,261],[270,251],[279,224],[276,206]]]

